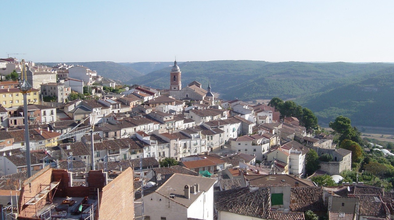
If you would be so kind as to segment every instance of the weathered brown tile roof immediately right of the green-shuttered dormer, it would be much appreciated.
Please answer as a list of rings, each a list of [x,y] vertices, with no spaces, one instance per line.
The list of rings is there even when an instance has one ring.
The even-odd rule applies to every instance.
[[[294,187],[291,189],[290,209],[294,212],[327,211],[322,186]]]

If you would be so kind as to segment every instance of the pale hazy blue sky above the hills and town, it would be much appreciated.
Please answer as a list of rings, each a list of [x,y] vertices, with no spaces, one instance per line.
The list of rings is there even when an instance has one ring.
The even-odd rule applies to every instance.
[[[34,62],[394,62],[394,1],[6,1],[0,56]]]

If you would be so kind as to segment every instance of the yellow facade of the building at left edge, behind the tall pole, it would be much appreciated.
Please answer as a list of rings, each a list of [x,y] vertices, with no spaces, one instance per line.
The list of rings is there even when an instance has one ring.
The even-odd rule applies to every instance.
[[[28,104],[39,104],[39,89],[32,89],[27,94]],[[23,105],[23,95],[19,88],[0,89],[0,104],[4,108]]]

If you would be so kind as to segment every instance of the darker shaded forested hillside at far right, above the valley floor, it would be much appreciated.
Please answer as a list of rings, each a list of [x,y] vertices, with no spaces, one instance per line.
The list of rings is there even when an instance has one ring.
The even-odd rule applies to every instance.
[[[343,115],[357,126],[394,127],[394,67],[338,80],[296,102],[320,122]]]

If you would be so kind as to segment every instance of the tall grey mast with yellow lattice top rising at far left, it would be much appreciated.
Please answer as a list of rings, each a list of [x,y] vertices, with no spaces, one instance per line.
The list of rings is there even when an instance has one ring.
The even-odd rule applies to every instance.
[[[20,92],[23,95],[23,114],[24,114],[24,123],[25,123],[25,132],[24,132],[24,138],[25,138],[25,147],[26,147],[26,165],[27,165],[27,177],[32,176],[32,165],[30,162],[30,140],[29,140],[29,118],[28,118],[28,112],[27,112],[27,93],[32,91],[32,86],[28,83],[27,81],[27,76],[26,76],[26,66],[25,62],[22,59],[22,73],[20,74],[21,80],[19,84],[19,89]]]

